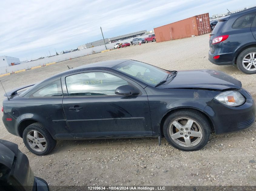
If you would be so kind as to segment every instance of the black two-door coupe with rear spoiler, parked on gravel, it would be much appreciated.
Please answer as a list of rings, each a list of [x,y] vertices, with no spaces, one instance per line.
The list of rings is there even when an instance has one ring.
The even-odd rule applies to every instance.
[[[178,123],[185,125],[193,118],[189,113],[198,112],[204,121],[193,118],[193,126],[201,126],[202,134],[204,126],[216,134],[239,131],[255,118],[254,100],[241,82],[215,70],[177,72],[111,60],[73,68],[18,93],[21,88],[7,92],[2,119],[8,132],[37,152],[47,144],[54,148],[55,140],[161,137],[167,118],[184,109],[189,112]],[[235,99],[239,104],[230,106]],[[186,133],[193,132],[181,135]]]

